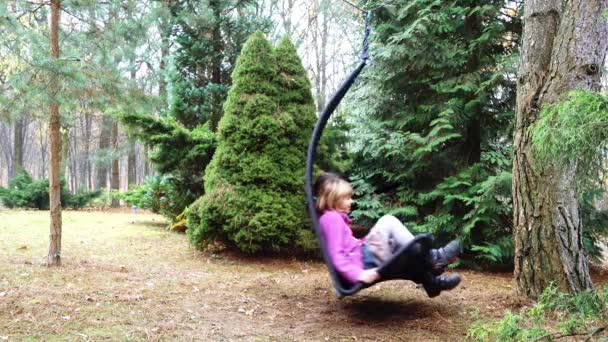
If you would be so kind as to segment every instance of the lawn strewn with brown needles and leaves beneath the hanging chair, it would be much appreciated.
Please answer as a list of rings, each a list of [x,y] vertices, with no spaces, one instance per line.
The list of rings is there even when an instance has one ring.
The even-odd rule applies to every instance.
[[[338,300],[318,261],[199,252],[157,215],[63,222],[47,268],[48,212],[0,211],[0,341],[460,341],[474,312],[529,304],[510,274],[472,271],[434,299],[393,281]]]

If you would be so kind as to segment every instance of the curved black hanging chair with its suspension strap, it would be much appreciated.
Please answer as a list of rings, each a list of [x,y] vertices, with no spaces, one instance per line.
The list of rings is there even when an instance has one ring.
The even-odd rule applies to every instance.
[[[321,135],[323,134],[323,129],[325,128],[331,114],[334,112],[334,110],[336,109],[348,89],[353,85],[353,82],[355,81],[357,76],[359,76],[361,70],[363,70],[363,68],[365,67],[369,58],[368,37],[370,31],[370,18],[371,12],[368,11],[365,18],[365,34],[363,38],[363,51],[361,53],[361,62],[355,68],[355,70],[351,72],[348,78],[342,83],[340,88],[338,88],[336,93],[327,103],[323,112],[321,112],[321,115],[319,116],[319,119],[317,120],[317,123],[313,130],[310,144],[308,145],[308,154],[306,158],[305,188],[308,201],[308,212],[312,219],[312,225],[317,235],[317,238],[319,239],[319,244],[323,252],[325,264],[327,265],[329,273],[331,274],[331,278],[333,280],[334,287],[339,298],[354,295],[361,289],[369,287],[373,284],[364,284],[361,282],[350,284],[345,281],[336,271],[332,260],[329,258],[325,239],[319,227],[319,215],[315,207],[315,200],[313,194],[312,173],[317,145],[319,143]],[[393,256],[389,260],[387,260],[385,263],[378,267],[378,273],[380,273],[381,277],[377,282],[392,279],[406,279],[414,281],[418,284],[424,283],[425,277],[428,277],[429,265],[423,256],[428,255],[428,251],[431,248],[431,243],[431,234],[420,234],[416,236],[415,239],[409,244],[401,246],[400,249],[395,254],[393,254]]]

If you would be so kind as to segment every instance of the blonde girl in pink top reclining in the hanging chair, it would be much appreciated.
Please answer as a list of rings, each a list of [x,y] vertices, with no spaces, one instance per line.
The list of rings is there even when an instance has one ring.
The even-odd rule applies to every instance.
[[[414,239],[394,216],[383,216],[367,236],[353,236],[348,217],[353,203],[353,189],[348,182],[332,173],[324,173],[315,181],[319,226],[325,238],[329,257],[338,273],[348,282],[371,284],[380,279],[379,265],[389,259],[400,246]],[[432,249],[427,256],[432,265],[423,283],[430,297],[442,290],[450,290],[460,283],[460,275],[441,275],[445,267],[456,260],[460,243],[452,241],[440,249]]]

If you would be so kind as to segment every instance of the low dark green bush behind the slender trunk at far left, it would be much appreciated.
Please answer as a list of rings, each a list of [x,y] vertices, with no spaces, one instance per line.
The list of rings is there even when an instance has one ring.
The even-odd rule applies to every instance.
[[[72,194],[61,180],[61,204],[65,208],[80,209],[100,193],[91,191]],[[21,170],[9,182],[8,188],[0,187],[0,200],[9,208],[49,209],[49,181],[36,181],[27,171]]]

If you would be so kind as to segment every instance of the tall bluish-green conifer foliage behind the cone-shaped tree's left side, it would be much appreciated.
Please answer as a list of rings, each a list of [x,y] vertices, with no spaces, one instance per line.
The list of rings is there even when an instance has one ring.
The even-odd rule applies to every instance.
[[[270,25],[255,17],[254,5],[251,0],[171,4],[177,34],[169,73],[170,114],[184,127],[209,123],[216,130],[245,39]]]

